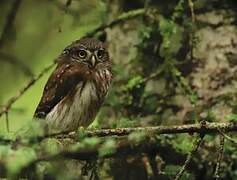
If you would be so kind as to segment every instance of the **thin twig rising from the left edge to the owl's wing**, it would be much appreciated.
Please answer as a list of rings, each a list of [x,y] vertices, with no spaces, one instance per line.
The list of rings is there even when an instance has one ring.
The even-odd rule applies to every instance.
[[[3,109],[0,111],[0,117],[7,113],[13,103],[15,103],[34,83],[39,80],[45,73],[47,73],[53,66],[55,65],[55,62],[44,68],[36,77],[32,78],[18,93],[11,97],[7,103],[3,106]]]

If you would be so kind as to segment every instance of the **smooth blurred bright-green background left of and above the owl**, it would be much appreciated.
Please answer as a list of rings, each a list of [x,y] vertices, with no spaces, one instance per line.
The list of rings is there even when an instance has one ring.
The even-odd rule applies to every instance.
[[[11,12],[13,0],[0,2],[0,33]],[[84,36],[106,20],[106,4],[102,1],[23,0],[7,32],[1,52],[38,74],[53,62],[72,41]],[[0,104],[17,94],[29,80],[29,74],[4,57],[0,60]],[[9,113],[10,130],[15,131],[31,120],[50,72],[45,74],[14,105]],[[6,131],[4,116],[0,131]]]

